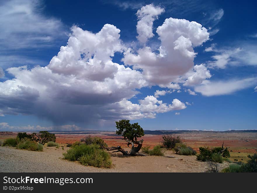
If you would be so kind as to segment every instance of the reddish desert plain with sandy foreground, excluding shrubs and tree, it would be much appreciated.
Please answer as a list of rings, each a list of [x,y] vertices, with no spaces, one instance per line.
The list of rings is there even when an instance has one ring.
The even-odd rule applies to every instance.
[[[27,131],[30,133],[32,131]],[[196,160],[196,156],[183,156],[166,150],[165,156],[123,156],[120,152],[109,151],[112,168],[95,168],[84,166],[78,162],[63,159],[69,143],[79,141],[85,136],[98,136],[104,139],[109,147],[120,145],[127,147],[127,143],[115,131],[51,131],[55,133],[56,147],[44,147],[42,152],[0,147],[0,172],[205,172],[207,163]],[[0,132],[0,140],[16,137],[17,131]],[[247,155],[253,155],[257,149],[257,130],[244,131],[147,131],[140,138],[143,146],[151,148],[161,144],[164,134],[180,136],[187,146],[199,153],[199,147],[218,147],[224,142],[229,147],[230,160],[247,162]],[[61,148],[63,147],[63,148]],[[166,157],[171,156],[171,157]],[[229,163],[224,161],[218,167],[222,170]]]

